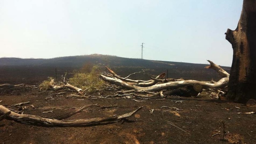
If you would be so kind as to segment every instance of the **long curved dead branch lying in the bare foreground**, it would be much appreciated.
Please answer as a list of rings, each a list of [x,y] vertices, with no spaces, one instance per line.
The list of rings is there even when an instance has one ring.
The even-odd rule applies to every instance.
[[[0,105],[0,113],[6,114],[6,119],[14,120],[23,124],[39,124],[39,125],[48,125],[48,126],[83,126],[90,124],[99,124],[102,122],[111,122],[117,121],[120,119],[128,118],[135,113],[137,113],[143,107],[139,107],[137,110],[134,110],[130,113],[123,115],[114,115],[112,117],[103,117],[103,118],[90,118],[90,119],[77,119],[77,120],[57,120],[53,118],[45,118],[37,115],[27,115],[27,114],[18,114],[11,112],[6,107]]]

